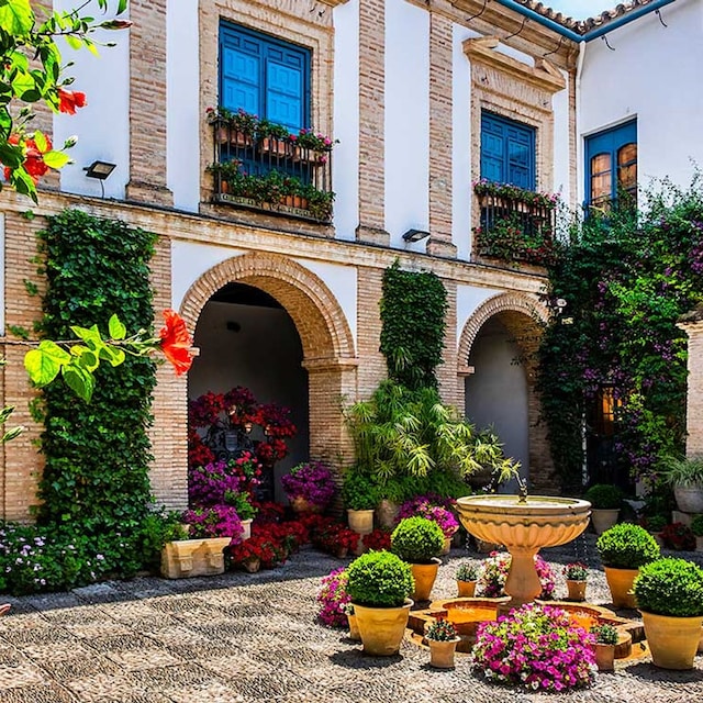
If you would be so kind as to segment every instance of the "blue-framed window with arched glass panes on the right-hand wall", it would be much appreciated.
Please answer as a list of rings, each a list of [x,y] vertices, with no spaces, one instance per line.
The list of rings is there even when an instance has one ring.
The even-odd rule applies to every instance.
[[[585,204],[609,210],[627,193],[637,202],[637,121],[585,138]]]

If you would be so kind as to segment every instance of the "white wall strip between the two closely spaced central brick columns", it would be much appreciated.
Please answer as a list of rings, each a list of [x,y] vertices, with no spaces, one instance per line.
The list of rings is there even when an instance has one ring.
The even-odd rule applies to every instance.
[[[404,0],[386,2],[386,230],[429,228],[429,13]]]

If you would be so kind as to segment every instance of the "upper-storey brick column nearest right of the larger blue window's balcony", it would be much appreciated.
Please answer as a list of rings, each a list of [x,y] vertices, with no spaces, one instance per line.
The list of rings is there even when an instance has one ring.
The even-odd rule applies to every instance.
[[[359,0],[359,225],[356,238],[388,246],[383,201],[384,0]]]

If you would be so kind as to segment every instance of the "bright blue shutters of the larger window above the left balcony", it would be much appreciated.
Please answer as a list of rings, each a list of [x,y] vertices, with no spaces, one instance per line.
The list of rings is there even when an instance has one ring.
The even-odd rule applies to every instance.
[[[222,22],[220,104],[291,132],[310,126],[310,51]]]

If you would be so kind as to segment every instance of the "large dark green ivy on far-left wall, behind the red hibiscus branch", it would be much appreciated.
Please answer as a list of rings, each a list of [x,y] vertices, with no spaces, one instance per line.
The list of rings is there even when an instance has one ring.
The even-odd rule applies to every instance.
[[[70,338],[70,325],[107,324],[113,313],[127,330],[150,328],[154,234],[66,210],[49,217],[38,236],[47,280],[40,325],[45,336]],[[43,389],[46,465],[37,523],[94,540],[102,571],[130,573],[142,567],[150,500],[155,367],[127,356],[118,368],[101,366],[99,376],[89,404],[60,383]]]

